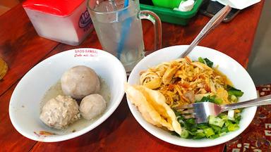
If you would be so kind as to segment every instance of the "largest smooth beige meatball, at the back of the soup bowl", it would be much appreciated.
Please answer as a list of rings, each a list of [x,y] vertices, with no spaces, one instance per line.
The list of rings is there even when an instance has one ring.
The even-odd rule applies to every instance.
[[[61,77],[61,88],[66,96],[83,99],[100,91],[100,80],[94,70],[78,65],[64,72]]]

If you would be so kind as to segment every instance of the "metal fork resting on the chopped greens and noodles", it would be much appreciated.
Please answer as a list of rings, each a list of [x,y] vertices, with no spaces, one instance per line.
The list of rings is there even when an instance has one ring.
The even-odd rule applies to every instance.
[[[207,122],[209,115],[217,116],[227,110],[236,108],[246,108],[251,106],[263,106],[271,104],[271,95],[263,96],[258,99],[243,101],[239,103],[232,103],[227,105],[217,105],[211,102],[193,103],[185,106],[174,108],[178,110],[185,119],[195,118],[197,123]],[[180,111],[181,110],[181,111]]]

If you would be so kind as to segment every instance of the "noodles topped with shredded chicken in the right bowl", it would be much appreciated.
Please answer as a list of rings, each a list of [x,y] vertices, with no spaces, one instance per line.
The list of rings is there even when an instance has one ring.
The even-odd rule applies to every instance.
[[[188,57],[148,68],[140,73],[140,84],[159,90],[171,108],[200,101],[203,96],[215,96],[222,99],[222,104],[231,103],[226,91],[231,82],[227,77]]]

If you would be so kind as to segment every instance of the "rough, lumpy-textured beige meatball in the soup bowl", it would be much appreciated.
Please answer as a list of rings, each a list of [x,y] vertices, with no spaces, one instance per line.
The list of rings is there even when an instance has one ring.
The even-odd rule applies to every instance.
[[[64,129],[79,118],[78,104],[71,96],[56,96],[45,103],[40,113],[40,120],[55,129]]]

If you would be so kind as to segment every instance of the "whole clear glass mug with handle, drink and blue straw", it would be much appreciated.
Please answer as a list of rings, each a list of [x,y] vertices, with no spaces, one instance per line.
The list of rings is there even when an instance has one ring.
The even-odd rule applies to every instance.
[[[145,56],[141,19],[155,26],[155,50],[161,49],[161,20],[152,11],[140,11],[138,0],[88,0],[88,11],[102,49],[119,58],[126,72]]]

